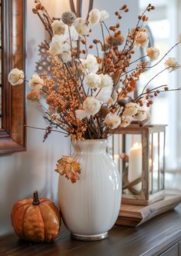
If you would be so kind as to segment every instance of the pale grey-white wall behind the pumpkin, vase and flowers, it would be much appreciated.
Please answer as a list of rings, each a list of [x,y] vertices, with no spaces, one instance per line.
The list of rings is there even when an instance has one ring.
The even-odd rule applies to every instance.
[[[31,12],[34,1],[28,0],[27,2],[26,66],[27,79],[29,79],[35,71],[38,44],[44,38],[44,28]],[[59,13],[69,8],[68,1],[51,0],[51,4],[49,0],[41,2],[44,6],[50,5],[51,15],[55,13],[55,17],[60,16]],[[94,2],[94,6],[106,9],[110,15],[114,14],[117,8],[124,3],[123,0],[94,0]],[[125,18],[121,22],[123,32],[127,32],[129,27],[135,25],[138,14],[136,0],[127,0],[127,5],[131,8],[130,13],[124,15]],[[100,33],[97,32],[97,35]],[[31,102],[27,102],[27,123],[37,127],[46,127],[41,109]],[[10,214],[15,201],[30,197],[35,189],[38,189],[41,196],[57,201],[58,174],[54,172],[55,163],[61,155],[70,153],[70,141],[61,134],[52,133],[43,144],[43,135],[43,131],[28,128],[27,151],[0,156],[0,234],[12,231]]]

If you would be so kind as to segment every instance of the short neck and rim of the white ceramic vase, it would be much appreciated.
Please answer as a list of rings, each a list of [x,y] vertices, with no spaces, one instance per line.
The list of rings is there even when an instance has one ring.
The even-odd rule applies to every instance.
[[[84,141],[73,141],[74,150],[80,151],[81,154],[100,154],[106,153],[107,140],[106,139],[93,139]]]

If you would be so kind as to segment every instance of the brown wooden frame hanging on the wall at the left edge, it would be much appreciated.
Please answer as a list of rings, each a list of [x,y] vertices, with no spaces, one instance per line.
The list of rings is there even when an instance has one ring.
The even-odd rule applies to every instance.
[[[12,86],[12,68],[25,71],[25,0],[2,1],[2,128],[0,154],[25,151],[25,85]]]

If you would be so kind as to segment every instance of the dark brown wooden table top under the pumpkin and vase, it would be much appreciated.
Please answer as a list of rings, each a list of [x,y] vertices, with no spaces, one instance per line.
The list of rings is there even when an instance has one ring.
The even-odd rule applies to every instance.
[[[102,241],[76,241],[61,228],[49,244],[29,244],[15,234],[0,237],[1,256],[138,256],[159,255],[181,240],[181,204],[138,228],[114,226]]]

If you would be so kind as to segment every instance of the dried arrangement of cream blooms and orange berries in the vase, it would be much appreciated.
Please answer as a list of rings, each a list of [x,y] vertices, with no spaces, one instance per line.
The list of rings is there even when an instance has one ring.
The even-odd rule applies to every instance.
[[[52,20],[40,1],[35,0],[35,4],[33,12],[50,35],[50,43],[46,43],[52,65],[48,74],[41,77],[32,75],[27,98],[40,104],[41,98],[46,99],[48,107],[41,105],[50,126],[44,139],[53,128],[61,128],[61,133],[76,140],[107,138],[118,126],[126,127],[131,121],[145,124],[150,118],[149,111],[145,109],[153,104],[153,97],[162,91],[180,89],[169,89],[167,85],[148,88],[150,81],[161,72],[180,67],[175,58],[168,58],[163,71],[146,83],[137,98],[133,98],[140,75],[158,65],[180,43],[173,45],[155,64],[149,65],[160,55],[157,48],[147,48],[148,35],[144,28],[148,20],[146,12],[152,11],[153,5],[148,5],[145,12],[138,16],[136,27],[130,29],[125,39],[120,30],[120,19],[123,12],[129,12],[127,5],[114,13],[117,22],[107,28],[104,20],[109,14],[105,10],[92,9],[88,20],[76,18],[73,12],[64,12],[60,20]],[[100,26],[102,39],[93,38],[89,45],[87,38],[95,25]],[[137,47],[147,48],[144,57],[148,58],[148,62],[142,62],[141,58],[133,60]],[[12,85],[18,85],[24,81],[25,75],[14,68],[8,78]],[[66,162],[69,165],[66,175],[71,178],[74,160],[67,158],[59,161],[58,171],[64,174],[62,166]],[[75,169],[80,171],[79,166]],[[72,182],[78,179],[76,175],[74,177]]]

